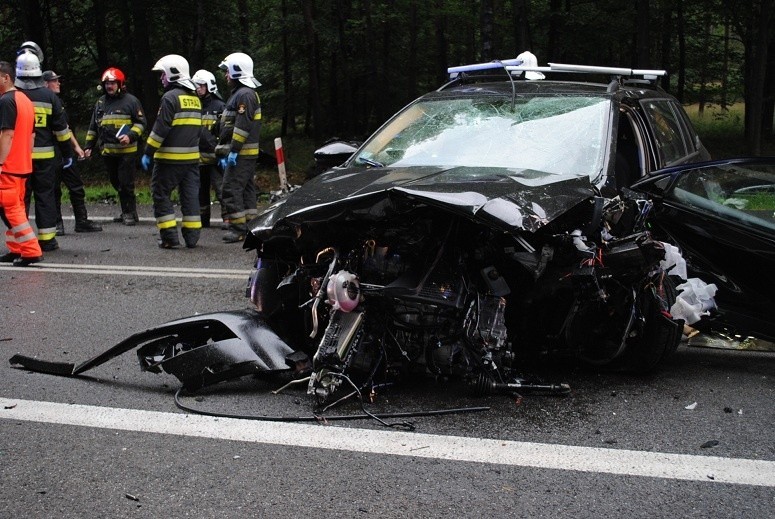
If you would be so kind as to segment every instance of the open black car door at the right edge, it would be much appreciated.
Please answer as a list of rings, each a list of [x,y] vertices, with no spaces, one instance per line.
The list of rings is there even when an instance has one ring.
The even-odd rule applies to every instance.
[[[685,164],[632,189],[653,200],[654,232],[681,248],[690,276],[718,287],[712,324],[775,340],[775,159]]]

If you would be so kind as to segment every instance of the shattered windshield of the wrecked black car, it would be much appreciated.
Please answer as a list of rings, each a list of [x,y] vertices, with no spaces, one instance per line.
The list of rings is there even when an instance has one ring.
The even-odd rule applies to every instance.
[[[535,170],[596,178],[610,101],[598,96],[424,100],[407,107],[353,157],[370,167]]]

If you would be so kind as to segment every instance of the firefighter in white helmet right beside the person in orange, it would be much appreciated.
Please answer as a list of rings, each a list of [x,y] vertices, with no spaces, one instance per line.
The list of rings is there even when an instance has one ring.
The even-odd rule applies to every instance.
[[[32,176],[27,182],[25,201],[35,196],[35,224],[38,242],[45,251],[59,248],[56,240],[57,167],[64,161],[72,164],[70,146],[72,133],[67,125],[65,110],[59,97],[46,87],[40,59],[35,52],[20,52],[16,58],[16,87],[23,91],[35,107],[35,144],[32,148]],[[61,158],[56,156],[59,148]],[[29,206],[29,203],[26,204]]]

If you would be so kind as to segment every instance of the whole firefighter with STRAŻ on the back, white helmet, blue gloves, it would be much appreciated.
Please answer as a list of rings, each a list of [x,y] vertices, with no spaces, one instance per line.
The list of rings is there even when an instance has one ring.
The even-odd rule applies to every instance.
[[[159,113],[148,136],[141,158],[144,170],[150,169],[153,215],[159,229],[159,247],[180,247],[175,208],[170,194],[177,188],[183,220],[181,234],[186,247],[199,241],[202,221],[199,216],[199,144],[202,133],[202,103],[183,56],[164,56],[153,70],[161,72],[164,95]]]

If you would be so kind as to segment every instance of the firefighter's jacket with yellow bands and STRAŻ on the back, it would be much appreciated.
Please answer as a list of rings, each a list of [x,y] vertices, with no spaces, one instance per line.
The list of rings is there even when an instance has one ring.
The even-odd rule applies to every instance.
[[[145,154],[168,164],[199,164],[202,103],[195,92],[172,84],[161,97]]]

